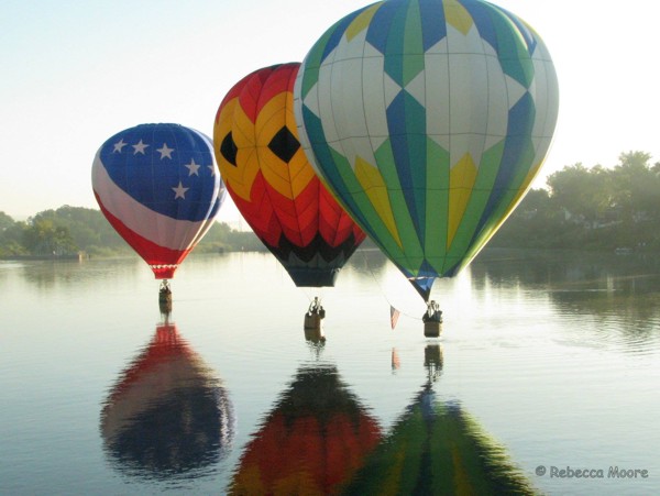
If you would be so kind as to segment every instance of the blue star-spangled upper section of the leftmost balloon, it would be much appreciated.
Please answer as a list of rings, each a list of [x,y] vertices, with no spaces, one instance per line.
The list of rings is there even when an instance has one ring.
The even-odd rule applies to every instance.
[[[210,139],[179,124],[141,124],[117,133],[101,147],[110,178],[146,208],[173,219],[209,216],[216,174]],[[211,216],[220,206],[216,200]]]

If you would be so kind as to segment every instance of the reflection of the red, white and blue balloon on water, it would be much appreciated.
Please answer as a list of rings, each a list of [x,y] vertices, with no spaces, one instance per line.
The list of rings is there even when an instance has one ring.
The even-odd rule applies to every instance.
[[[229,451],[234,414],[220,379],[167,320],[121,374],[101,412],[117,467],[146,478],[199,475]]]

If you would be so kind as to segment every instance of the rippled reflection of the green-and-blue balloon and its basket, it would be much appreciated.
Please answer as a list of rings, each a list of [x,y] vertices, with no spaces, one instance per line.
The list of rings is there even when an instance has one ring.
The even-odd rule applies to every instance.
[[[391,432],[343,489],[345,494],[535,494],[458,403],[439,401],[439,345],[425,350],[428,379]]]

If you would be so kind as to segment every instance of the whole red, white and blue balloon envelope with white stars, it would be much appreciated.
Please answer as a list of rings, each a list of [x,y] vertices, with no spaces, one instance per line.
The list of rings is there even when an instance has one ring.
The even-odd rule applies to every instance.
[[[211,227],[224,199],[211,140],[179,124],[141,124],[107,140],[94,194],[157,279],[168,279]]]

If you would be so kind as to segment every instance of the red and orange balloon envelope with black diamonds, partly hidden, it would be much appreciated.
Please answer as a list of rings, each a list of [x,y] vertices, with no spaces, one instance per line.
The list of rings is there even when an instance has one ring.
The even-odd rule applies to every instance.
[[[296,286],[333,286],[365,234],[321,185],[298,142],[299,66],[258,69],[231,88],[216,115],[215,152],[237,208]]]

